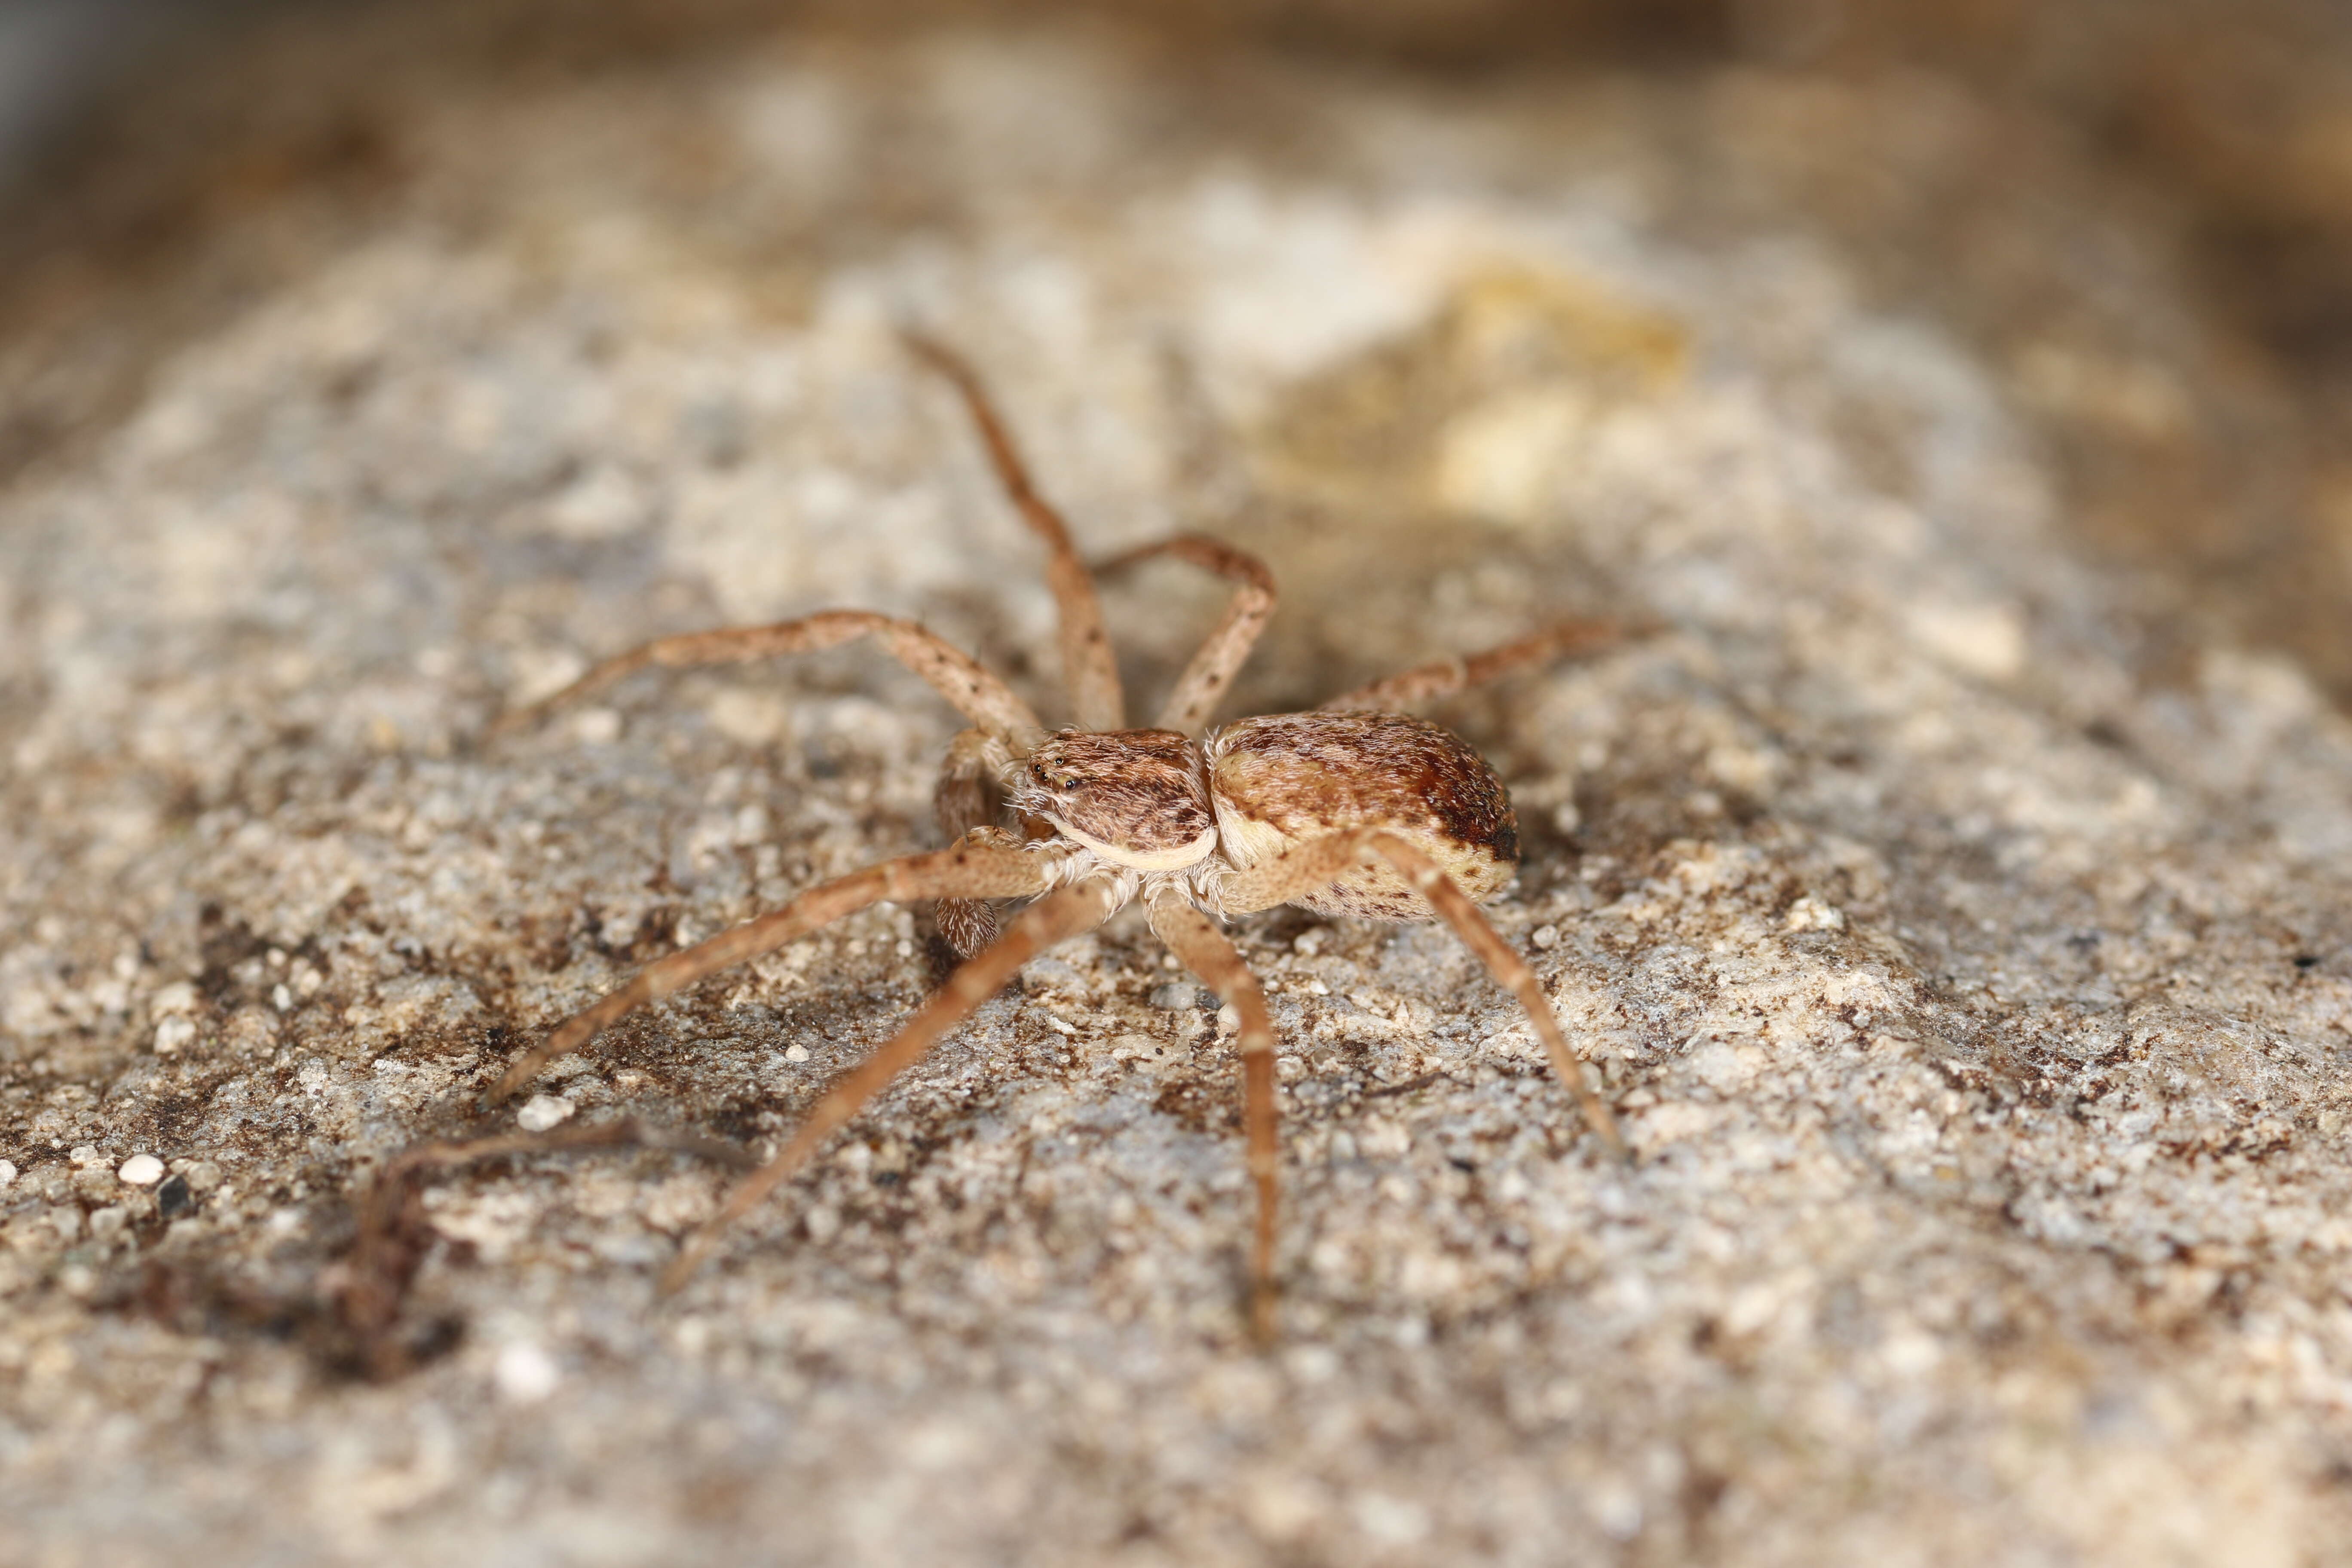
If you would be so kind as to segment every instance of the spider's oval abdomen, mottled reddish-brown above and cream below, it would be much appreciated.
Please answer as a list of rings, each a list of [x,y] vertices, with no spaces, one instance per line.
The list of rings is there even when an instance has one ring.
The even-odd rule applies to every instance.
[[[1240,719],[1202,743],[1218,846],[1237,867],[1343,827],[1388,827],[1472,898],[1519,865],[1510,795],[1454,733],[1402,712],[1277,712]],[[1317,914],[1432,919],[1385,860],[1294,898]]]

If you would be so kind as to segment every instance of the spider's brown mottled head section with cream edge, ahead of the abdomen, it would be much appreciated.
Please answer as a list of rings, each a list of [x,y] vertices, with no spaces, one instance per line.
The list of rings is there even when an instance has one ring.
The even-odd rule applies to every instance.
[[[1171,729],[1047,736],[1018,764],[1011,804],[1117,865],[1195,865],[1216,849],[1200,750]]]

